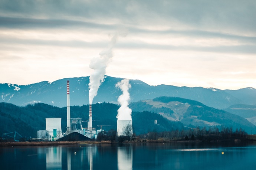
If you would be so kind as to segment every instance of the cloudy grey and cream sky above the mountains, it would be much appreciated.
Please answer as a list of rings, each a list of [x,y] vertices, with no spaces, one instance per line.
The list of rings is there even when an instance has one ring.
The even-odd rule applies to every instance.
[[[106,75],[149,85],[256,88],[255,0],[0,0],[0,83]]]

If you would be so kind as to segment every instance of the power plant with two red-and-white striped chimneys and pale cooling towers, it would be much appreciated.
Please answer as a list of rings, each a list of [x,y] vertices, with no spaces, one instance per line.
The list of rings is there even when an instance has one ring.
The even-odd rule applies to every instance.
[[[128,81],[126,81],[126,82],[129,83]],[[123,91],[123,89],[122,89],[122,91]],[[128,89],[125,92],[128,93]],[[87,123],[87,128],[82,127],[82,122],[85,122],[85,121],[82,121],[81,118],[70,118],[69,95],[70,95],[69,81],[67,81],[67,126],[66,126],[66,132],[64,134],[62,133],[61,118],[46,118],[46,129],[37,131],[38,139],[55,140],[64,135],[69,135],[70,133],[73,133],[73,132],[78,132],[86,137],[91,138],[91,139],[96,139],[98,132],[104,131],[104,130],[102,130],[102,126],[105,126],[105,125],[101,125],[101,130],[97,130],[97,131],[96,131],[96,128],[92,128],[92,105],[91,105],[91,103],[89,104],[89,121]],[[120,97],[122,97],[122,95]],[[117,120],[117,130],[116,130],[118,136],[131,136],[133,133],[132,132],[131,109],[129,109],[127,105],[125,105],[125,107],[122,107],[122,103],[121,103],[122,109],[121,108],[118,109],[119,118]],[[123,112],[124,109],[126,110],[125,112]],[[128,112],[127,112],[127,110],[128,110]],[[106,125],[106,126],[110,126],[110,125]]]

